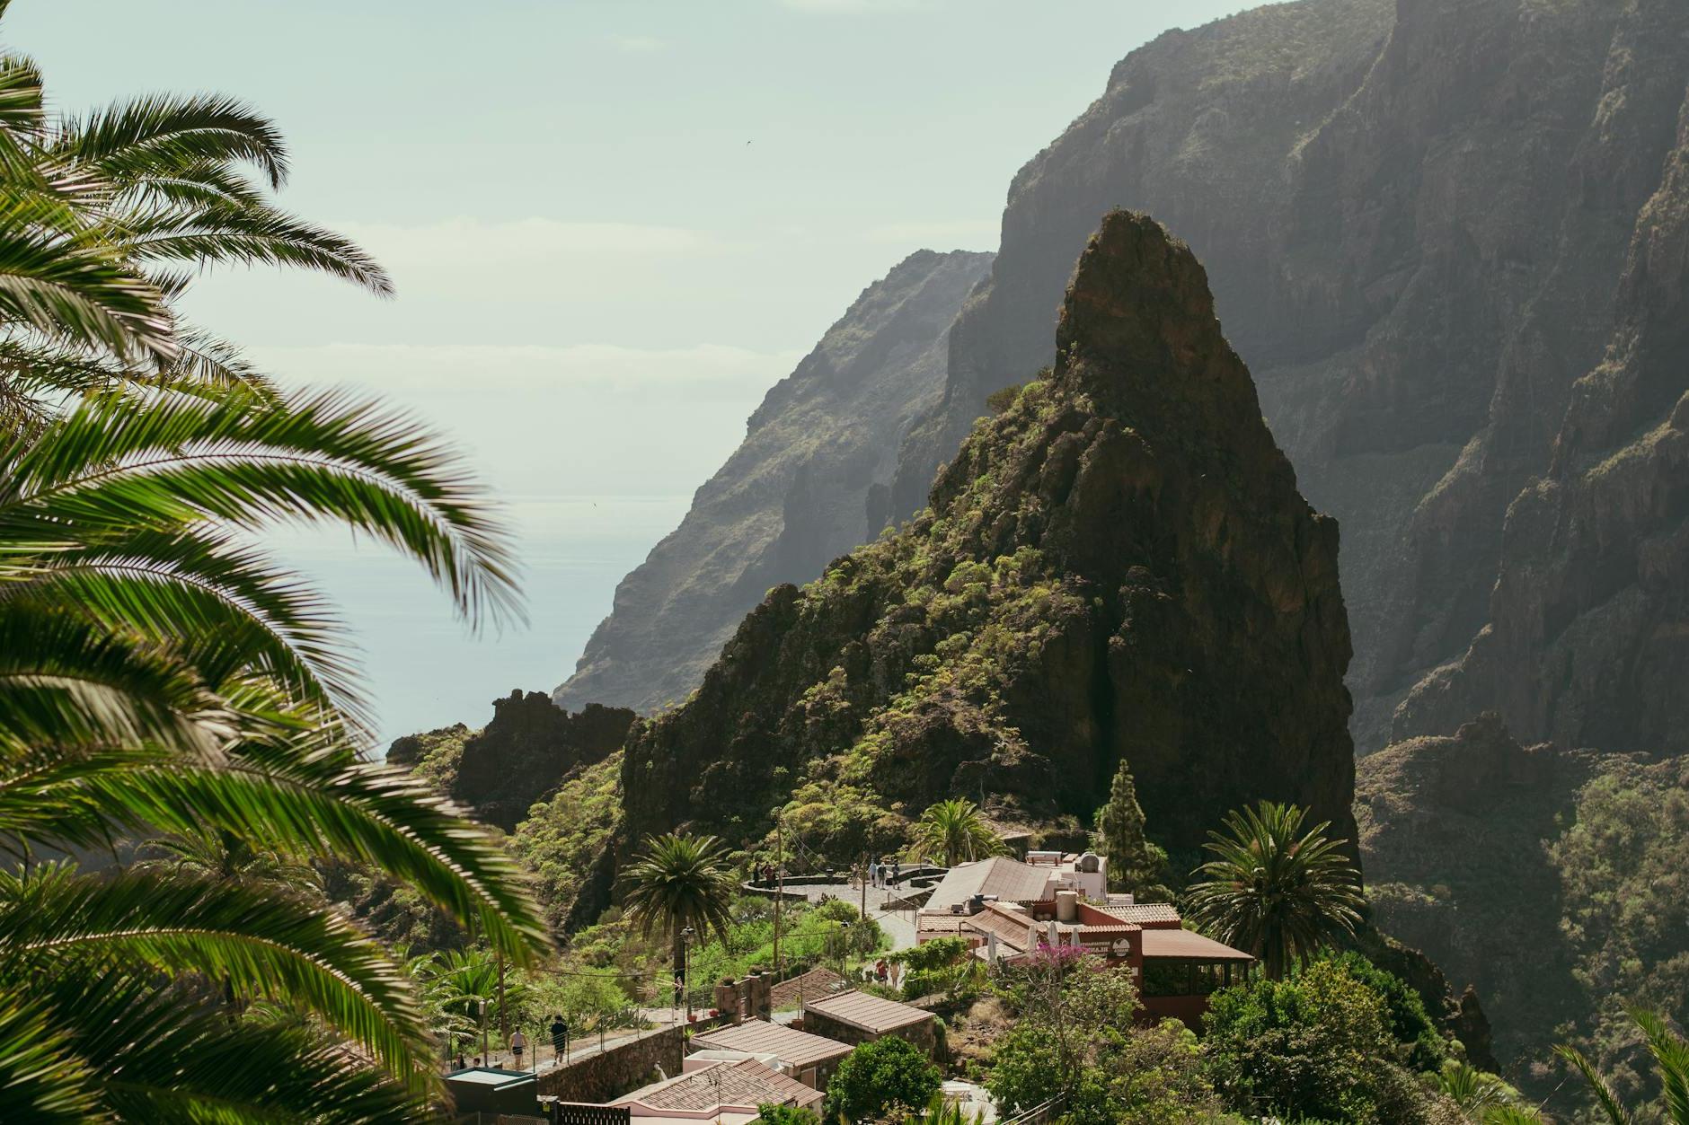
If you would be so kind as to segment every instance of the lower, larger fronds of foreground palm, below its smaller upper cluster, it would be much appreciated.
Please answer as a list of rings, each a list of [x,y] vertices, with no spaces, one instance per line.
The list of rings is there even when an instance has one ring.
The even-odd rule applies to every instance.
[[[0,873],[0,1100],[19,1120],[409,1120],[434,1083],[404,966],[319,899],[215,863],[81,873],[39,851],[145,831],[204,845],[184,856],[355,858],[517,963],[546,946],[498,845],[361,760],[333,615],[238,534],[274,519],[397,546],[471,620],[512,608],[461,466],[360,402],[95,397],[0,446],[0,848],[19,863]],[[311,1019],[206,1019],[225,998]]]

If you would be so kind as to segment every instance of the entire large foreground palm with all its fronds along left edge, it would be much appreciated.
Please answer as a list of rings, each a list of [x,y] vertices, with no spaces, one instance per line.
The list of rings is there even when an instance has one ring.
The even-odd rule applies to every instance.
[[[248,167],[275,188],[285,154],[236,103],[52,118],[35,68],[0,52],[8,1120],[426,1115],[412,981],[280,887],[289,865],[368,863],[519,965],[547,944],[497,841],[365,760],[333,611],[253,546],[275,520],[338,522],[421,561],[471,625],[515,610],[503,532],[448,449],[372,404],[280,395],[174,314],[211,264],[388,291]],[[176,861],[35,861],[127,833],[164,833]]]

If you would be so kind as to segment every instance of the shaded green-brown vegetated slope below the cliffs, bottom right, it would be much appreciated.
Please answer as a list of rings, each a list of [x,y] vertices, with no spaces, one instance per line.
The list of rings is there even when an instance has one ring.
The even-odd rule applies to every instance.
[[[1356,812],[1380,926],[1483,997],[1527,1090],[1569,1042],[1657,1095],[1627,1003],[1689,1012],[1689,764],[1518,747],[1493,718],[1363,758]]]

